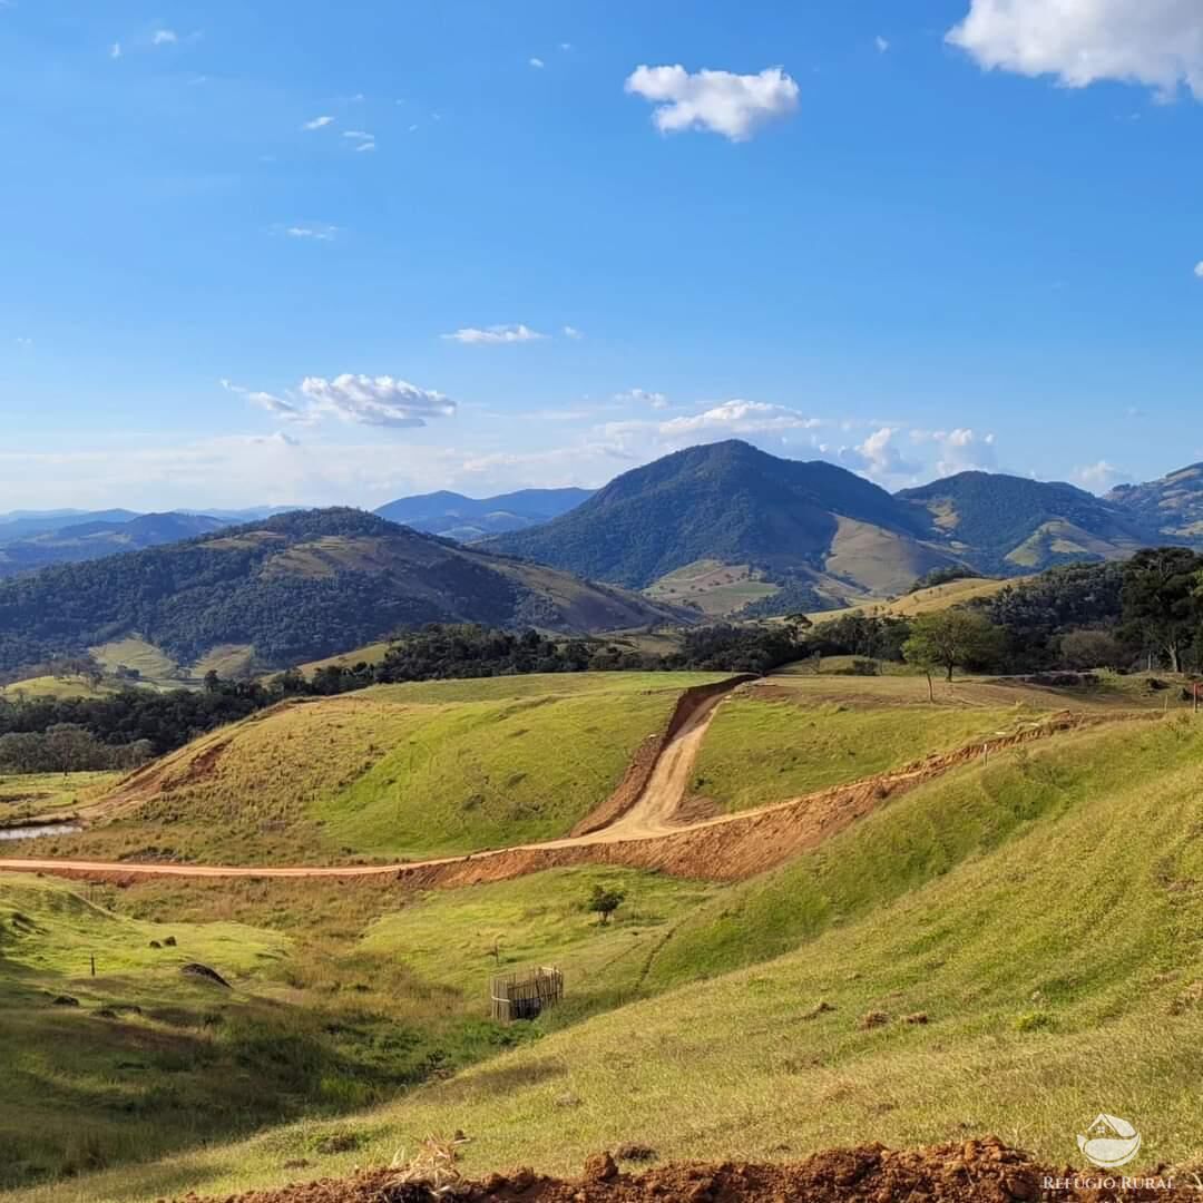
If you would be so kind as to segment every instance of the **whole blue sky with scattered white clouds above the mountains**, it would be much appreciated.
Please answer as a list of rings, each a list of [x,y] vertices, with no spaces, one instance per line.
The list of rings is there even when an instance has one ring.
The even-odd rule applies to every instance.
[[[1201,460],[1203,8],[1050,8],[0,0],[0,508]]]

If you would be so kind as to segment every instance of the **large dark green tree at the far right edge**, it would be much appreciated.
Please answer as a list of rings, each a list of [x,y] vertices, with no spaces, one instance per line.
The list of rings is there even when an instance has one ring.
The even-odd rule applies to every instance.
[[[1120,599],[1126,633],[1163,653],[1173,672],[1181,672],[1183,652],[1203,622],[1201,569],[1203,557],[1186,547],[1138,551],[1124,568]]]

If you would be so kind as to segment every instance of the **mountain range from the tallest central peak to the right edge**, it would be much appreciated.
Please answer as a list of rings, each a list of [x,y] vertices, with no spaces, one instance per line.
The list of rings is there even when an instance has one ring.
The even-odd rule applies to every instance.
[[[1203,545],[1203,464],[1107,497],[983,472],[891,494],[733,440],[635,468],[484,546],[640,589],[725,565],[788,589],[781,604],[819,605],[896,593],[932,568],[1018,575],[1160,543]]]

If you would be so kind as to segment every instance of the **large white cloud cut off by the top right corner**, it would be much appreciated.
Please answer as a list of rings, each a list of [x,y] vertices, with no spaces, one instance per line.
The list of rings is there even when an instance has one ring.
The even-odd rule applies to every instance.
[[[1067,88],[1140,83],[1203,100],[1197,0],[971,0],[947,41],[986,70],[1055,76]]]

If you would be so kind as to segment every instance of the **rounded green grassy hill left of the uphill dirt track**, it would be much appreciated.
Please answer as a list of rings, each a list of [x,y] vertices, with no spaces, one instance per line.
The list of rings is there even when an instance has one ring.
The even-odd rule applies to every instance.
[[[719,677],[491,677],[279,706],[131,778],[112,795],[114,822],[19,853],[313,864],[564,835],[609,796],[681,691]]]

